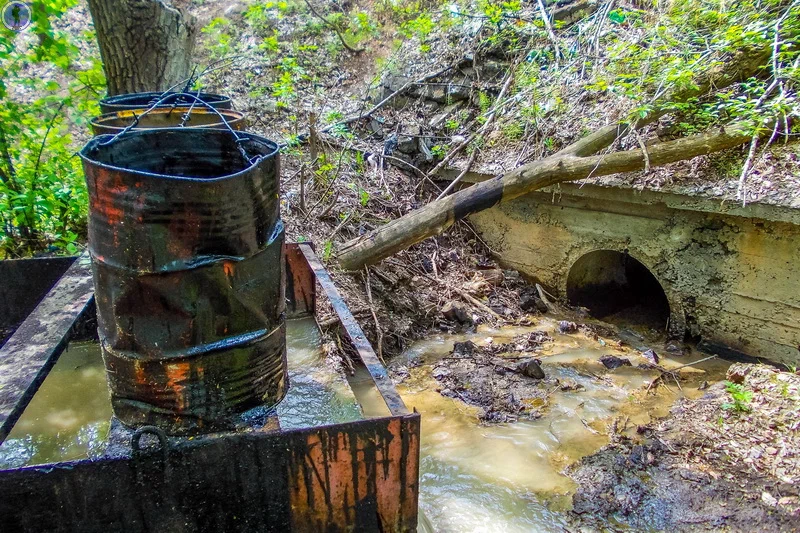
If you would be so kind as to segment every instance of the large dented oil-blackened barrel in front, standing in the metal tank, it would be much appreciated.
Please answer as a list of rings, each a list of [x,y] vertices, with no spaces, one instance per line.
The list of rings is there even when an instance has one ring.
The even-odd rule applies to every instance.
[[[103,359],[129,426],[232,429],[286,392],[278,149],[238,137],[154,129],[81,150]]]

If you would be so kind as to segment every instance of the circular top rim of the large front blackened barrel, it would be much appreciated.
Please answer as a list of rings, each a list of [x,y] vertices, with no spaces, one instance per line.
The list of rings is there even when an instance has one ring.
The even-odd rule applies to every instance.
[[[130,138],[130,137],[132,137],[134,135],[135,136],[170,135],[170,134],[175,134],[175,133],[181,133],[183,135],[196,135],[198,133],[211,133],[213,135],[231,135],[230,131],[214,129],[214,128],[153,128],[153,129],[141,129],[141,130],[132,131],[130,133],[126,133],[125,136],[121,137],[116,142],[124,142],[126,138]],[[102,163],[102,162],[98,161],[97,159],[93,159],[92,157],[90,157],[89,154],[88,154],[88,152],[90,150],[94,150],[101,143],[103,143],[105,141],[110,141],[110,140],[112,140],[112,139],[114,139],[116,137],[116,135],[111,135],[111,134],[97,135],[97,136],[93,137],[91,140],[89,140],[89,142],[87,142],[83,146],[83,148],[81,148],[81,150],[78,152],[78,155],[80,156],[80,158],[84,162],[89,163],[89,164],[91,164],[93,166],[96,166],[96,167],[104,168],[106,170],[113,170],[113,171],[117,171],[117,172],[126,172],[126,173],[130,173],[130,174],[134,174],[134,175],[138,175],[138,176],[145,176],[145,177],[150,177],[150,178],[160,178],[160,179],[177,180],[177,181],[189,181],[189,182],[195,182],[195,183],[214,183],[214,182],[220,182],[220,181],[225,181],[225,180],[229,180],[229,179],[233,179],[233,178],[239,177],[239,176],[251,171],[256,165],[261,163],[261,161],[277,157],[279,152],[280,152],[280,146],[278,145],[278,143],[276,143],[275,141],[272,141],[270,139],[267,139],[266,137],[262,137],[261,135],[256,135],[254,133],[243,132],[243,131],[237,131],[236,134],[239,135],[240,137],[246,138],[247,140],[255,141],[255,142],[264,144],[264,145],[270,147],[272,149],[272,151],[267,153],[267,154],[264,154],[264,155],[259,155],[255,159],[251,159],[249,161],[250,164],[247,167],[243,168],[242,170],[239,170],[239,171],[234,172],[232,174],[225,174],[225,175],[216,176],[216,177],[213,177],[213,178],[196,178],[196,177],[191,177],[191,176],[175,176],[175,175],[171,175],[171,174],[159,174],[159,173],[156,173],[156,172],[146,172],[146,171],[143,171],[143,170],[135,170],[135,169],[131,169],[131,168],[125,168],[125,167],[119,167],[119,166],[116,166],[116,165],[111,165],[111,164],[108,164],[108,163]]]

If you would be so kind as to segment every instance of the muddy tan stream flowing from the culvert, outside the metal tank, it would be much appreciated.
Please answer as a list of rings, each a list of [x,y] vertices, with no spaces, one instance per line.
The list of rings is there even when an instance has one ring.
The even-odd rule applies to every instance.
[[[683,392],[674,383],[649,395],[643,385],[659,373],[622,367],[608,372],[597,361],[605,354],[645,359],[631,348],[612,348],[611,339],[582,333],[560,335],[557,322],[542,319],[534,327],[484,329],[471,335],[442,335],[414,344],[404,361],[410,376],[398,389],[409,407],[422,413],[420,507],[434,531],[564,531],[574,485],[564,468],[608,442],[607,426],[615,418],[628,432],[664,416],[681,394],[696,397],[702,380],[722,379],[727,364],[709,361],[685,369]],[[555,391],[541,418],[513,424],[481,425],[477,408],[436,392],[431,363],[449,355],[453,342],[478,345],[510,342],[515,335],[548,331],[554,338],[537,357],[549,376],[573,380],[581,391]],[[663,350],[657,351],[663,352]],[[675,368],[701,359],[688,354],[663,358]],[[394,366],[393,365],[393,366]],[[416,365],[416,366],[415,366]],[[646,385],[644,385],[646,386]]]

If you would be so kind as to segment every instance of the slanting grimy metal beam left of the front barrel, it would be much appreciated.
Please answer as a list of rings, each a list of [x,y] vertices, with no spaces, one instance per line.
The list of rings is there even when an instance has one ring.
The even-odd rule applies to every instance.
[[[91,264],[85,253],[0,348],[0,443],[64,351],[70,329],[92,294]]]

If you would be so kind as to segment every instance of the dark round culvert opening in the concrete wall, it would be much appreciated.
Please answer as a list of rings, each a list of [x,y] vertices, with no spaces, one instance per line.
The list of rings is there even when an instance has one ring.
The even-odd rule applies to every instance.
[[[627,253],[597,250],[578,259],[567,277],[567,298],[610,322],[665,330],[669,301],[661,284]]]

